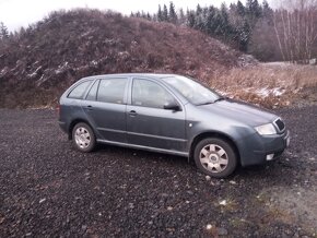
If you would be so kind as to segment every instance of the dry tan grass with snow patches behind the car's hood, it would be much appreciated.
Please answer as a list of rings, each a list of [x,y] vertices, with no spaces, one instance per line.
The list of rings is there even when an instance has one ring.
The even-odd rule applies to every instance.
[[[317,86],[317,67],[261,63],[233,68],[224,73],[215,72],[210,85],[230,97],[267,108],[289,106],[305,97],[305,90]]]

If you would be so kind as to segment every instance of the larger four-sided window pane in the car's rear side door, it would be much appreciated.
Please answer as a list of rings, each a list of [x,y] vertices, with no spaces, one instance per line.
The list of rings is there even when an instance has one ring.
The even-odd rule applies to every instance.
[[[124,104],[127,79],[102,80],[97,93],[97,100],[111,104]]]

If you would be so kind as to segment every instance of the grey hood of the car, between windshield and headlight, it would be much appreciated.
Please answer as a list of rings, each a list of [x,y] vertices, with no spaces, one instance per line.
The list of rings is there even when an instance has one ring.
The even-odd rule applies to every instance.
[[[234,100],[221,100],[201,106],[216,116],[236,120],[251,127],[272,122],[278,116]]]

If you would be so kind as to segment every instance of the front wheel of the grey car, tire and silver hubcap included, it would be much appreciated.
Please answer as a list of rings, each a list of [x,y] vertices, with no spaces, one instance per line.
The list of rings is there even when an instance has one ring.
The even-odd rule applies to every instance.
[[[237,166],[237,155],[233,146],[218,138],[200,141],[195,147],[193,158],[202,172],[214,178],[230,176]]]

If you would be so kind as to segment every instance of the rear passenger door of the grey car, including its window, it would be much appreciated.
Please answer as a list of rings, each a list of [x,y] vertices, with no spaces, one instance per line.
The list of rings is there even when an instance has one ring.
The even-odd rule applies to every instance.
[[[83,103],[99,140],[127,142],[126,109],[128,78],[106,78],[94,82]]]

